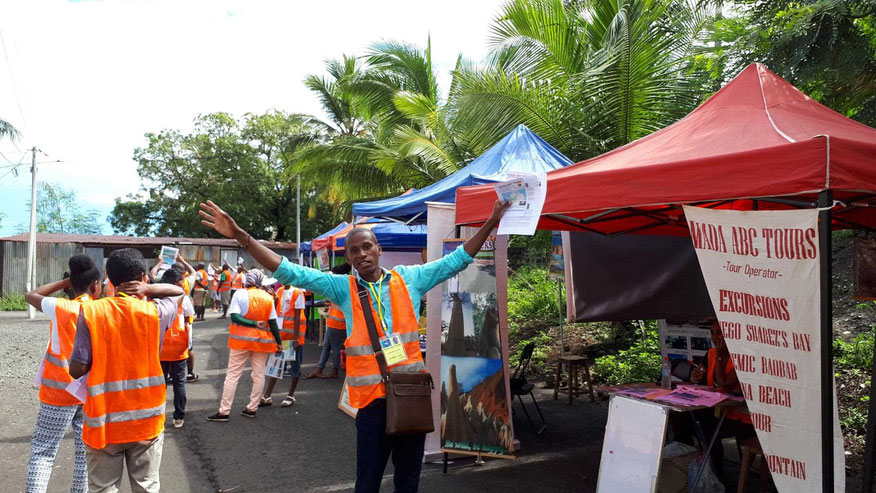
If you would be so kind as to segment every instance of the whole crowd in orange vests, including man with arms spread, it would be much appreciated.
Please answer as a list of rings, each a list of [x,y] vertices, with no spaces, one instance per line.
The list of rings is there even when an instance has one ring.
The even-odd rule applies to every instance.
[[[202,223],[240,243],[273,278],[258,268],[221,269],[190,265],[178,256],[147,270],[135,249],[112,252],[101,282],[98,266],[86,255],[69,259],[64,279],[27,293],[26,301],[48,315],[49,344],[39,370],[40,409],[31,440],[26,491],[46,491],[58,447],[72,426],[75,439],[74,492],[118,491],[127,469],[135,492],[160,490],[159,470],[165,428],[167,387],[173,389],[172,424],[185,423],[187,382],[194,372],[192,326],[205,319],[207,295],[219,318],[230,317],[229,358],[218,412],[207,419],[229,420],[237,383],[247,362],[252,390],[241,415],[255,418],[273,404],[277,378],[265,382],[271,355],[285,360],[290,378],[280,406],[295,403],[307,332],[305,290],[326,298],[326,336],[317,369],[305,378],[337,378],[345,348],[350,356],[347,385],[356,417],[356,491],[377,492],[392,456],[398,492],[419,487],[425,433],[386,431],[385,372],[425,372],[419,349],[419,305],[423,295],[465,269],[496,226],[507,204],[454,253],[415,266],[380,266],[381,247],[369,229],[347,236],[348,264],[332,272],[300,266],[253,240],[212,202],[201,205]],[[355,273],[353,273],[355,269]],[[53,294],[64,292],[66,298]],[[387,364],[372,345],[373,320],[383,339],[404,341],[400,361]],[[365,314],[365,315],[363,315]],[[396,338],[399,339],[399,338]],[[288,345],[288,348],[284,345]],[[375,350],[376,349],[376,350]],[[324,374],[329,358],[333,368]]]

